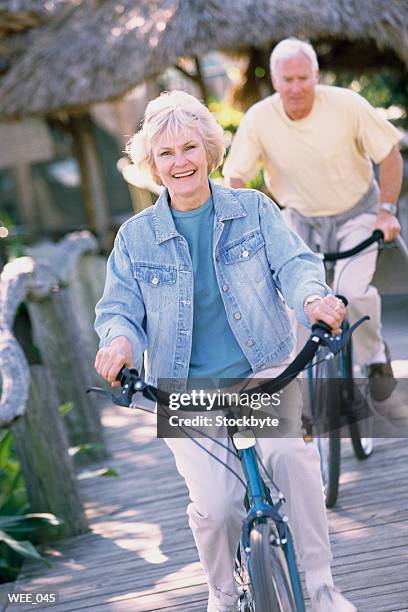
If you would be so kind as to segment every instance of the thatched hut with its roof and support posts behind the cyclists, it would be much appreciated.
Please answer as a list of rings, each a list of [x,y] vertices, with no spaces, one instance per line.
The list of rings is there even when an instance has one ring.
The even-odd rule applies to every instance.
[[[109,225],[87,116],[97,102],[211,50],[247,53],[247,101],[287,36],[311,40],[323,69],[408,66],[408,0],[9,0],[0,3],[0,119],[63,118],[76,143],[88,218]],[[0,63],[1,64],[1,63]],[[2,72],[1,72],[2,71]],[[200,64],[190,76],[205,94]],[[251,81],[252,79],[252,81]]]

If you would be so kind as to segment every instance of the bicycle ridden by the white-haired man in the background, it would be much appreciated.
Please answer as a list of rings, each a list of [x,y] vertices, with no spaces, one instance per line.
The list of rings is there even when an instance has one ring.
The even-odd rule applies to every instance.
[[[384,239],[381,230],[357,244],[352,249],[338,253],[317,253],[324,263],[346,259],[364,251],[372,244]],[[330,282],[330,279],[329,279]],[[343,331],[349,327],[347,317],[342,323]],[[324,349],[320,351],[320,357]],[[341,465],[341,427],[344,421],[348,427],[354,453],[363,461],[373,452],[373,419],[371,410],[363,395],[357,392],[353,370],[352,341],[335,359],[320,359],[314,370],[308,370],[308,393],[311,423],[307,423],[307,433],[315,440],[319,454],[326,507],[332,508],[337,501]],[[330,406],[327,433],[319,435],[322,415]],[[360,414],[359,414],[360,413]],[[362,418],[365,417],[365,418]]]

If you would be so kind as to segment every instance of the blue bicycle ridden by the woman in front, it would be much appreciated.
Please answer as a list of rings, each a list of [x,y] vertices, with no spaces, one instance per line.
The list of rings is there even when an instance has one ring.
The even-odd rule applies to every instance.
[[[249,393],[273,394],[281,391],[305,367],[312,367],[312,360],[320,345],[325,346],[333,354],[339,353],[349,342],[353,331],[367,318],[363,317],[357,321],[343,332],[341,337],[333,337],[330,327],[322,322],[313,325],[312,333],[303,349],[280,376],[272,381],[260,383],[257,381],[257,386],[251,388]],[[98,387],[92,387],[88,392],[96,391],[117,405],[139,408],[150,413],[152,410],[132,403],[135,394],[141,393],[145,398],[161,406],[169,406],[169,394],[147,384],[136,370],[122,368],[118,380],[122,387],[119,396]],[[158,415],[160,416],[159,412]],[[243,521],[235,563],[235,578],[240,591],[240,612],[304,612],[304,598],[292,536],[287,517],[280,512],[285,499],[255,449],[256,439],[253,431],[251,429],[239,431],[237,427],[230,427],[228,434],[233,442],[232,449],[217,441],[217,444],[239,457],[244,474],[242,479],[216,455],[205,449],[185,427],[179,427],[195,444],[229,469],[246,490],[247,516]],[[194,427],[187,429],[197,431]],[[271,486],[276,489],[277,502],[273,501],[261,470]]]

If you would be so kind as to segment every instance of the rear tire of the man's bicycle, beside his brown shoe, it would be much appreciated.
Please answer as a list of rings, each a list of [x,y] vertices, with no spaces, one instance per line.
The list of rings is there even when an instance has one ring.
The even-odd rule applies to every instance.
[[[349,412],[349,432],[354,454],[360,461],[368,459],[374,450],[373,440],[373,418],[356,420],[353,414],[353,405],[359,398],[356,397],[354,372],[353,372],[353,344],[350,338],[344,351],[344,378],[345,378],[345,401]]]

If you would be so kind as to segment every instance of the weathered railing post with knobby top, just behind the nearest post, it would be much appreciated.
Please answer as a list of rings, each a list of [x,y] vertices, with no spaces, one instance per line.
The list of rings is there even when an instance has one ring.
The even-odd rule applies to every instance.
[[[62,402],[73,403],[73,410],[65,417],[70,443],[96,445],[80,456],[83,460],[106,456],[100,400],[86,393],[88,387],[101,382],[93,368],[95,305],[93,298],[88,301],[77,279],[82,258],[96,250],[97,242],[89,232],[69,234],[58,244],[30,249],[36,269],[27,301],[33,334]]]

